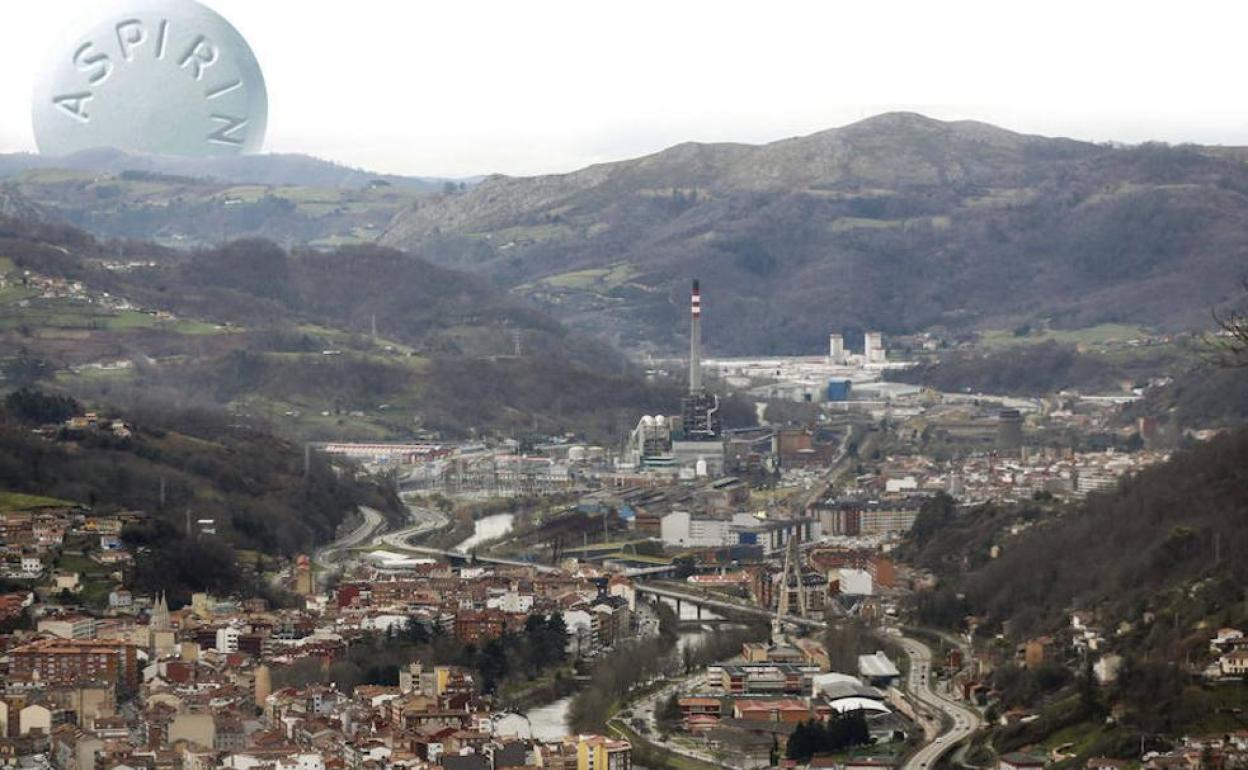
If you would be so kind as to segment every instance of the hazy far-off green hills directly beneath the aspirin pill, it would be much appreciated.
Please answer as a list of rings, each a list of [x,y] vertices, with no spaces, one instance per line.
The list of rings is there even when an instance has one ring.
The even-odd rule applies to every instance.
[[[374,173],[306,155],[16,154],[0,155],[0,216],[55,218],[102,238],[177,248],[242,237],[332,248],[374,242],[397,211],[472,183]]]

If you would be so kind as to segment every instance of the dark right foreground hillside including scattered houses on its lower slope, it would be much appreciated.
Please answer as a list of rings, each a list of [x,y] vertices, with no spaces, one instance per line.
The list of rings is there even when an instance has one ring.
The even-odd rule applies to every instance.
[[[976,739],[991,751],[972,755],[1055,751],[1073,769],[1242,729],[1243,686],[1203,671],[1217,629],[1248,625],[1246,517],[1248,428],[1078,504],[926,504],[902,553],[937,587],[912,609],[920,624],[975,628],[992,705]],[[1025,663],[1025,643],[1041,656]]]

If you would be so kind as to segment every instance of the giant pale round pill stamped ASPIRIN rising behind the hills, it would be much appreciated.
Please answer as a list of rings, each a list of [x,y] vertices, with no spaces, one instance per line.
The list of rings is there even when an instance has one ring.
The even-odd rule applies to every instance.
[[[247,41],[216,11],[195,0],[131,0],[86,16],[51,51],[35,85],[40,152],[261,149],[265,77]]]

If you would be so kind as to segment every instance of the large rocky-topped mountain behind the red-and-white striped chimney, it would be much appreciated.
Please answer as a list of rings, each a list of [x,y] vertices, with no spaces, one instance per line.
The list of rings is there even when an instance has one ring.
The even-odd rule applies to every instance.
[[[684,144],[424,197],[382,242],[490,276],[628,347],[678,349],[684,282],[719,353],[830,329],[1203,324],[1248,257],[1229,150],[1116,147],[887,114],[761,146]]]

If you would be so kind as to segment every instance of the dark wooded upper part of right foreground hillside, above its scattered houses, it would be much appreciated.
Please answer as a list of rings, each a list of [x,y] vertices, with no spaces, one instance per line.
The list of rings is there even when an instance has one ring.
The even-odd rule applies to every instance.
[[[1107,630],[1127,624],[1114,644],[1181,656],[1198,625],[1248,621],[1246,517],[1248,428],[1239,428],[1071,507],[930,504],[906,550],[940,577],[920,600],[930,621],[960,625],[973,614],[985,630],[1021,639],[1092,610]]]

